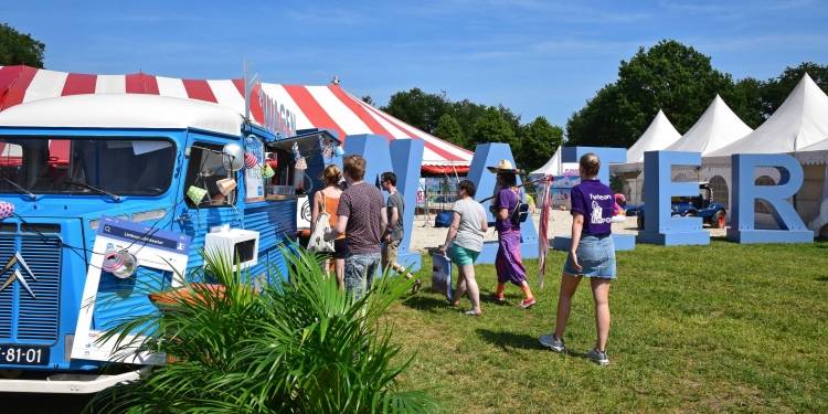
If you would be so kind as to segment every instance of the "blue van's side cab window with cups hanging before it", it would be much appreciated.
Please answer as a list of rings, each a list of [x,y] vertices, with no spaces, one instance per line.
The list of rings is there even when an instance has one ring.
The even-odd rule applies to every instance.
[[[184,180],[184,200],[191,208],[230,206],[236,202],[236,190],[229,185],[227,170],[221,155],[222,146],[195,142]],[[235,180],[235,173],[230,176]],[[232,188],[232,189],[231,189]],[[194,200],[200,200],[198,203]]]

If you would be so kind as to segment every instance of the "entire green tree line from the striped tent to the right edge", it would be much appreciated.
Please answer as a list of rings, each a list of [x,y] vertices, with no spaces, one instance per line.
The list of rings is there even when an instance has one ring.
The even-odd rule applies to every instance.
[[[828,92],[828,65],[805,62],[766,81],[735,81],[715,70],[710,56],[692,46],[662,40],[639,47],[618,66],[618,78],[601,88],[566,121],[567,145],[629,148],[659,109],[684,134],[719,94],[751,128],[758,127],[808,73]],[[370,102],[370,97],[364,97]],[[474,149],[482,142],[507,142],[521,168],[541,167],[564,140],[563,128],[539,116],[521,124],[503,105],[468,99],[453,102],[445,92],[397,92],[382,107],[389,114],[444,140]]]

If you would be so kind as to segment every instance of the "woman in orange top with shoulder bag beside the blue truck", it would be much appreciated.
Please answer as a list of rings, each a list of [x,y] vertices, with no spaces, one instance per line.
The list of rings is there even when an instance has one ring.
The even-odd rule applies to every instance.
[[[325,188],[317,191],[314,194],[314,209],[310,213],[310,234],[314,234],[316,230],[317,219],[320,212],[328,213],[328,223],[331,229],[336,229],[337,209],[339,208],[339,198],[342,195],[342,190],[339,189],[339,180],[342,179],[342,173],[339,167],[330,164],[322,171],[322,183]],[[344,289],[344,258],[348,254],[348,246],[346,246],[344,234],[337,234],[333,240],[333,272],[337,276],[337,285],[340,289]],[[329,261],[326,261],[329,262]],[[326,263],[326,270],[330,268],[330,265]]]

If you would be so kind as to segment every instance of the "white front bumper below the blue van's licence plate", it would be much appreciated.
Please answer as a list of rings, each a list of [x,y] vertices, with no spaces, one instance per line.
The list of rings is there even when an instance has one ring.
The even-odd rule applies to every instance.
[[[92,394],[120,383],[138,381],[149,372],[145,367],[117,375],[60,373],[45,380],[0,380],[0,392],[40,394]]]

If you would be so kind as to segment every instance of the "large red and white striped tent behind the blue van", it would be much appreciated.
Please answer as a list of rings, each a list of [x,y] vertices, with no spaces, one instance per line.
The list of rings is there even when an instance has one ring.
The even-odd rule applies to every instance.
[[[306,86],[262,83],[262,89],[296,115],[296,129],[326,128],[349,135],[373,134],[388,139],[422,139],[423,172],[468,171],[473,152],[428,135],[365,104],[339,85]],[[0,66],[0,110],[14,105],[79,94],[152,94],[199,99],[244,113],[243,79],[181,79],[135,73],[91,75]],[[251,115],[262,123],[258,88],[253,91]]]

